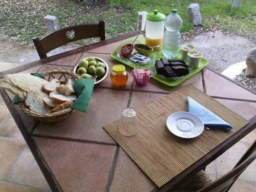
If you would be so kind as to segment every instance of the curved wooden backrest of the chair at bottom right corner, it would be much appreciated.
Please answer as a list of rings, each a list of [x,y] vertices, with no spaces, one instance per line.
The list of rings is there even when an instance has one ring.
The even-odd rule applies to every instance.
[[[198,192],[226,192],[236,182],[238,177],[244,172],[244,170],[256,159],[256,141],[250,146],[249,150],[239,160],[236,166],[228,172],[226,175],[210,183],[206,187],[198,190]]]

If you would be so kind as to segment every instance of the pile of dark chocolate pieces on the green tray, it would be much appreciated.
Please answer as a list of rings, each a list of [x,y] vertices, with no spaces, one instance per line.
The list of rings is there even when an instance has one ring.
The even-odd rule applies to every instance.
[[[156,61],[156,72],[167,78],[181,77],[189,73],[185,62],[180,59],[161,58]]]

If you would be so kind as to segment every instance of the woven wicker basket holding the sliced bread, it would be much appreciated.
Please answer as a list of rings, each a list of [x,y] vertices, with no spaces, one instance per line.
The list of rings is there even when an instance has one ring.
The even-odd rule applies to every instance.
[[[67,71],[67,70],[51,70],[42,73],[46,80],[50,81],[51,79],[57,78],[59,79],[60,83],[66,83],[69,79],[79,79],[81,78],[76,73]],[[60,121],[69,117],[69,115],[74,111],[73,109],[67,108],[55,113],[47,113],[47,114],[37,114],[31,110],[29,110],[24,102],[19,103],[20,108],[29,116],[35,118],[38,121],[44,123],[53,123]]]

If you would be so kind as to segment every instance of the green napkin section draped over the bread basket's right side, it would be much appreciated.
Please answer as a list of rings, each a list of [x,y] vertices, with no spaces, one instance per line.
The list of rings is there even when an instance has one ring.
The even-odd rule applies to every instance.
[[[75,80],[74,89],[77,99],[70,106],[71,109],[86,112],[90,102],[93,88],[94,79],[77,79]]]

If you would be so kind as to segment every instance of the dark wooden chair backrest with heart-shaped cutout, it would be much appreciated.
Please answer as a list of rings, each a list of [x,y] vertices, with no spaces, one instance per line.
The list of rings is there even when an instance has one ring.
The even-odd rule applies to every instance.
[[[62,45],[92,37],[100,37],[100,40],[105,40],[105,25],[102,20],[96,25],[77,25],[59,29],[41,39],[33,38],[33,42],[39,57],[45,58],[48,52]]]

